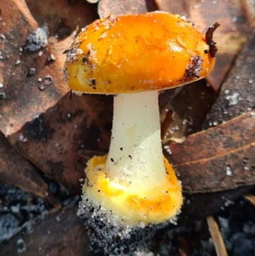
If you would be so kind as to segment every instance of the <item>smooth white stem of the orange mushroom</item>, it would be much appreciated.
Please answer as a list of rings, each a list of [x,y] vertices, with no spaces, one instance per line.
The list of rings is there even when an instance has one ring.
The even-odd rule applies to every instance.
[[[131,186],[164,183],[158,92],[121,93],[114,96],[113,106],[107,176]]]

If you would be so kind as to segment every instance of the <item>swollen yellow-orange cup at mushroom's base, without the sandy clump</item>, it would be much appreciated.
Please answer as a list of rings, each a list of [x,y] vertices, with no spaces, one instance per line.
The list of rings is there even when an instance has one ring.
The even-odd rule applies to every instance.
[[[94,156],[85,170],[87,183],[84,197],[91,207],[101,207],[102,217],[115,220],[114,225],[142,227],[173,218],[182,206],[180,182],[170,163],[164,158],[165,181],[155,186],[134,186],[107,175],[107,155]]]

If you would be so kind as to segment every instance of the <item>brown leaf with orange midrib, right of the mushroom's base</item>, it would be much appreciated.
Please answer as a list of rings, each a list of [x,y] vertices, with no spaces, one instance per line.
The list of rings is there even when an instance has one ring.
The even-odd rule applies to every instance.
[[[205,193],[255,184],[255,113],[170,144],[170,163],[180,173],[184,192]]]

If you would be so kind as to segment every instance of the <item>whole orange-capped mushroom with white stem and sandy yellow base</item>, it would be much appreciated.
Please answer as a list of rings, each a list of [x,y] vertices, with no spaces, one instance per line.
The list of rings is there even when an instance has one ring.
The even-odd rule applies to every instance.
[[[114,95],[110,150],[87,163],[80,203],[92,225],[103,224],[102,239],[108,230],[123,238],[170,222],[180,211],[182,188],[161,146],[158,94],[211,72],[217,49],[208,41],[179,15],[155,11],[96,20],[66,50],[74,93]]]

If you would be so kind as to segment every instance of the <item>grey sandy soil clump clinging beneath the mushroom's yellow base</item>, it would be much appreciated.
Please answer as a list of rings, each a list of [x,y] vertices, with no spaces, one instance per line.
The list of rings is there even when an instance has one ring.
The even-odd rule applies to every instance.
[[[149,241],[157,230],[163,229],[170,223],[177,224],[175,218],[171,218],[168,222],[157,225],[120,227],[116,225],[114,218],[103,214],[102,207],[92,207],[89,199],[80,202],[78,215],[85,218],[93,254],[99,253],[106,256],[133,256],[136,255],[134,252],[140,255],[140,252],[148,248]]]

